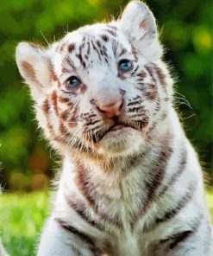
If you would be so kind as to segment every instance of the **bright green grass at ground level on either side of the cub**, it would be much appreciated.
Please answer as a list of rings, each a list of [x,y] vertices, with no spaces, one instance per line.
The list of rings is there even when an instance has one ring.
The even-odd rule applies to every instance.
[[[48,215],[47,192],[4,194],[0,198],[0,235],[10,256],[33,256]],[[213,223],[213,189],[207,195]]]

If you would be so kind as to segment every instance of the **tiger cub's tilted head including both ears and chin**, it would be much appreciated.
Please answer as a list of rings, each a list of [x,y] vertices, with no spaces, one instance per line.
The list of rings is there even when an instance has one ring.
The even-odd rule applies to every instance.
[[[118,20],[85,26],[48,48],[18,44],[39,126],[57,149],[128,156],[158,134],[172,103],[158,37],[147,5],[132,1]]]

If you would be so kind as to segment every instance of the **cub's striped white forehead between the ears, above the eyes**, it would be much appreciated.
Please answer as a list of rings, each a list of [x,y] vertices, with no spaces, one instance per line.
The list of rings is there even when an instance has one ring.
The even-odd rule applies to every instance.
[[[57,48],[62,72],[70,68],[88,68],[110,61],[123,54],[132,54],[131,45],[121,31],[110,24],[86,26],[66,35]]]

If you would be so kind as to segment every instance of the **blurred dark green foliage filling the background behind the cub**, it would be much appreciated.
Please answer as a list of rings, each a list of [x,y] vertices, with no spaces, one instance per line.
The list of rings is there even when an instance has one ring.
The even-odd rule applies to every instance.
[[[53,176],[53,157],[39,139],[27,86],[15,62],[16,44],[47,45],[79,26],[119,16],[127,0],[0,0],[0,159],[6,189],[41,189]],[[185,131],[209,171],[212,167],[212,6],[210,0],[147,0],[178,74],[177,105]],[[44,35],[44,36],[43,36]],[[44,38],[45,37],[45,38]],[[179,95],[179,94],[177,94]],[[184,96],[179,95],[179,98]],[[182,102],[182,103],[181,103]],[[0,181],[1,182],[1,181]]]

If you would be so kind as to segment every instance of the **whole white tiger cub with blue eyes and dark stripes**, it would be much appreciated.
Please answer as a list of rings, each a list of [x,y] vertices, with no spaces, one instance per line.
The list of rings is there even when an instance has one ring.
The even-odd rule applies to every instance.
[[[172,106],[147,5],[21,42],[16,61],[41,129],[63,156],[39,256],[213,255],[202,172]]]

